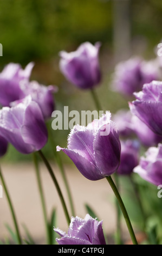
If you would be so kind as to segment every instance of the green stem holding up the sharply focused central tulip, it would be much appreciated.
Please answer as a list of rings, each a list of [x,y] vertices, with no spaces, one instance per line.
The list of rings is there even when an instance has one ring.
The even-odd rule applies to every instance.
[[[125,221],[126,221],[126,224],[127,224],[127,228],[128,228],[129,234],[130,234],[131,239],[132,239],[132,242],[133,242],[134,245],[138,245],[137,239],[135,237],[135,234],[134,234],[134,231],[133,231],[133,228],[132,228],[131,221],[129,220],[127,210],[125,208],[124,203],[122,202],[122,199],[120,197],[118,189],[116,188],[116,186],[114,184],[114,181],[113,181],[111,176],[107,176],[106,179],[109,182],[109,185],[111,186],[111,188],[112,188],[112,190],[113,190],[113,192],[116,196],[116,199],[118,200],[118,203],[119,203],[120,209],[122,211],[122,214],[124,215],[124,218],[125,218]]]

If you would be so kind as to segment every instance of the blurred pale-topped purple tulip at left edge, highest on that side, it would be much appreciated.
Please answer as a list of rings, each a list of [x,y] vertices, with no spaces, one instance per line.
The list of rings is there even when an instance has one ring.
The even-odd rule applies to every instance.
[[[0,74],[0,104],[9,106],[10,102],[20,99],[21,80],[29,80],[34,63],[30,62],[23,70],[20,64],[10,63]]]

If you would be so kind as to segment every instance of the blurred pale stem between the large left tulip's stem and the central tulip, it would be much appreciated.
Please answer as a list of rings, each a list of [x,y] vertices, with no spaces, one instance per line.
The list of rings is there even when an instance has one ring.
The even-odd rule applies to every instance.
[[[63,163],[62,163],[61,157],[56,152],[56,143],[54,141],[53,135],[51,134],[51,127],[49,127],[49,125],[48,125],[48,133],[49,133],[49,136],[50,136],[50,142],[52,143],[52,148],[53,149],[55,148],[55,150],[53,150],[54,157],[55,157],[55,160],[57,162],[57,165],[60,168],[61,175],[62,175],[62,178],[63,178],[63,182],[64,182],[64,185],[66,187],[66,191],[67,191],[67,195],[68,195],[68,199],[69,199],[69,204],[70,204],[70,209],[71,209],[72,215],[75,216],[75,210],[74,210],[74,203],[73,203],[72,193],[70,192],[70,187],[69,187],[69,184],[68,184],[66,173],[64,172],[64,167],[63,167]]]

